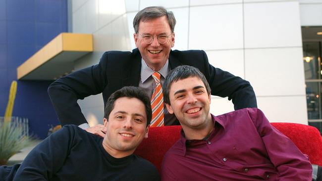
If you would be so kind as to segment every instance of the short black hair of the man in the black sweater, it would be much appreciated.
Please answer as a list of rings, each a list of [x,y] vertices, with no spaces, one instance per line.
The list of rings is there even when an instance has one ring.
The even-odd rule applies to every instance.
[[[107,119],[110,112],[114,109],[114,103],[115,100],[121,97],[128,97],[128,98],[137,98],[142,101],[145,107],[145,112],[147,115],[147,126],[150,125],[151,119],[152,119],[152,109],[151,109],[151,100],[148,94],[138,87],[128,86],[123,87],[120,90],[116,90],[114,93],[112,93],[109,98],[107,99],[107,103],[105,106],[104,111],[104,118]],[[133,109],[136,109],[135,107]]]

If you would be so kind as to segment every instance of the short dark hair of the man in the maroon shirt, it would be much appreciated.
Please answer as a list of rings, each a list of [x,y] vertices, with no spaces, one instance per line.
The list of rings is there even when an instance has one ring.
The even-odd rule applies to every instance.
[[[188,77],[197,77],[199,78],[205,85],[208,95],[211,93],[210,86],[208,81],[203,73],[200,72],[199,69],[188,66],[188,65],[181,65],[169,72],[166,76],[165,81],[162,85],[163,90],[163,101],[170,105],[170,98],[169,98],[169,91],[171,88],[171,84],[178,80],[186,79]]]

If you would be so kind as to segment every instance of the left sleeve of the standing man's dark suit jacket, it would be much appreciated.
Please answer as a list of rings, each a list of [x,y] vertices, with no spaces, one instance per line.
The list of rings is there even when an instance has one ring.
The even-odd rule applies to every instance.
[[[87,123],[77,100],[104,90],[107,85],[107,56],[106,52],[99,64],[73,72],[49,86],[48,93],[62,125]]]

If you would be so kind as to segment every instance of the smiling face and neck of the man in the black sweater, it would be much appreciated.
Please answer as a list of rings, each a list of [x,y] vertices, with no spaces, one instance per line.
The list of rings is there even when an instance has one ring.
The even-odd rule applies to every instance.
[[[137,98],[121,97],[104,119],[107,133],[103,140],[106,151],[116,158],[132,154],[144,137],[148,137],[145,106]]]

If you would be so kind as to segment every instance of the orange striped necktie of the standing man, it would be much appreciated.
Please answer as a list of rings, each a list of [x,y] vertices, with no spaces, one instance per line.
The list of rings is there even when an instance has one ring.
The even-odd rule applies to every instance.
[[[154,90],[151,98],[152,120],[151,127],[164,126],[163,115],[163,93],[161,88],[161,75],[158,72],[152,74],[156,81],[156,89]]]

